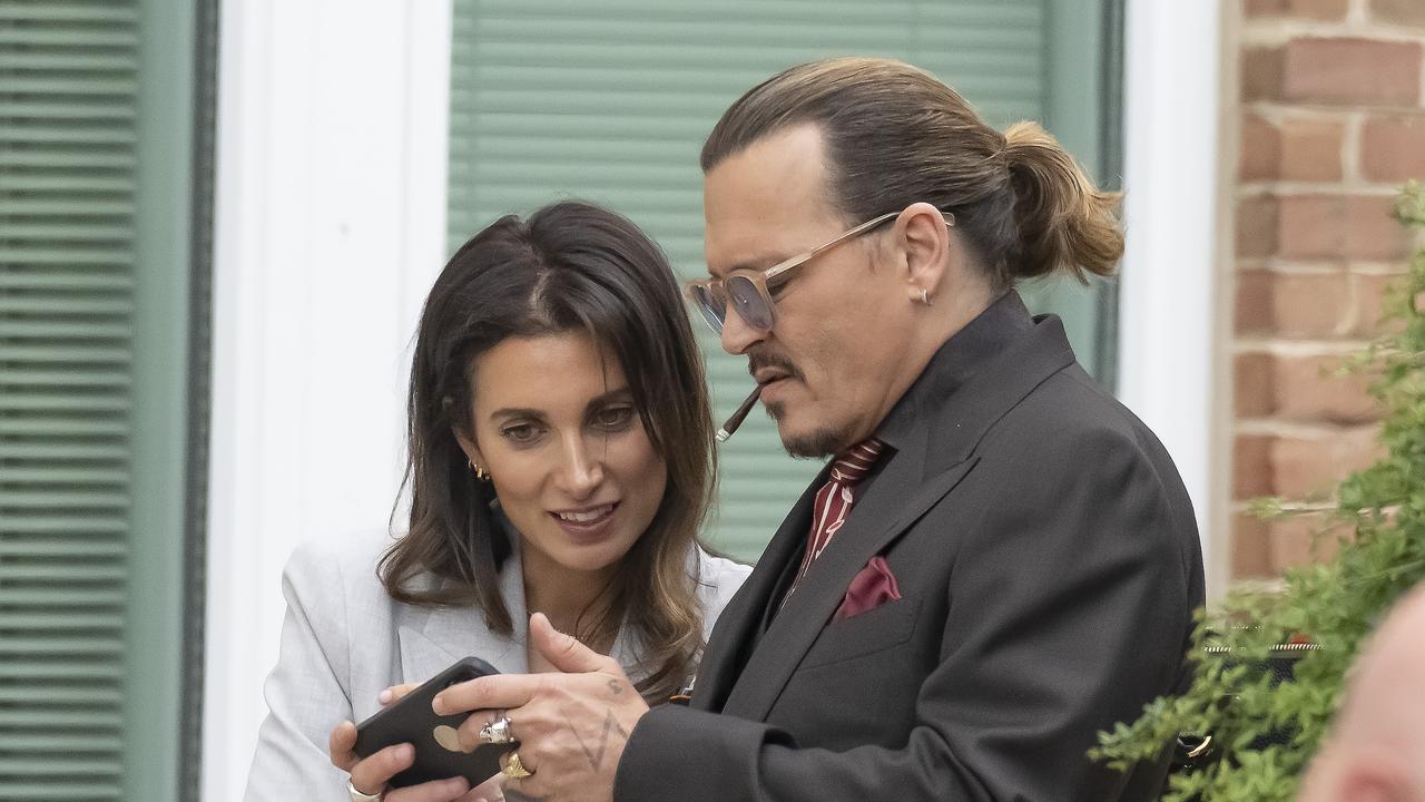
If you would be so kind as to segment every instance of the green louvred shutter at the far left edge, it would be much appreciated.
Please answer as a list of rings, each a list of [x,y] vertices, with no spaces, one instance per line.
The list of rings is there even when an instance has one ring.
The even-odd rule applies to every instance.
[[[137,725],[133,709],[144,682],[178,692],[177,664],[160,665],[177,632],[154,621],[177,604],[135,614],[152,592],[133,579],[148,561],[135,544],[182,551],[181,531],[145,524],[162,494],[142,477],[171,482],[138,457],[148,447],[134,427],[145,398],[170,392],[140,382],[182,377],[181,347],[144,352],[154,265],[141,221],[187,231],[138,164],[144,14],[140,0],[0,0],[0,801],[175,789],[170,728]],[[182,176],[185,157],[164,153],[158,171]],[[185,287],[174,278],[185,263],[160,267]],[[185,303],[157,314],[182,321]],[[177,364],[145,374],[151,362]],[[175,579],[145,571],[144,584]],[[133,782],[135,756],[152,786]]]

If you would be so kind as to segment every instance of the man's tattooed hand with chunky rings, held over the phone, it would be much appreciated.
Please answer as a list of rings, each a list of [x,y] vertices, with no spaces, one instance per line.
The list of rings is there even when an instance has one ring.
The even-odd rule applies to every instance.
[[[648,705],[613,658],[556,631],[543,614],[530,616],[530,644],[560,674],[480,676],[442,691],[435,712],[504,711],[520,763],[533,772],[506,781],[507,791],[549,802],[611,801],[618,758]],[[477,746],[492,718],[467,718],[460,743]]]

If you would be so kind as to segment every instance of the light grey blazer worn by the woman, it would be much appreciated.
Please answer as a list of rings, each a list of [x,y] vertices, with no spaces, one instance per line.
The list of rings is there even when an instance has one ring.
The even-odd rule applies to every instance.
[[[517,549],[500,571],[500,592],[514,621],[514,634],[506,638],[492,632],[479,611],[418,608],[386,595],[376,562],[390,544],[385,532],[309,542],[288,561],[282,645],[264,686],[268,716],[244,802],[348,802],[346,773],[331,765],[328,738],[342,719],[361,722],[375,714],[380,708],[376,694],[385,688],[422,682],[469,655],[504,674],[529,669]],[[707,639],[751,568],[701,549],[690,555],[691,562],[697,564]],[[636,662],[641,649],[634,641],[626,628],[610,654],[637,681],[647,671]]]

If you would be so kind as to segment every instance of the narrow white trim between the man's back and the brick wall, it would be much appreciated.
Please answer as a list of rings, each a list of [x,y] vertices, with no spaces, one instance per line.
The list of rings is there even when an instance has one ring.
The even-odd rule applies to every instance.
[[[1127,254],[1119,394],[1177,462],[1203,531],[1208,595],[1226,582],[1218,522],[1227,460],[1214,448],[1226,391],[1217,285],[1221,1],[1129,0],[1124,57]]]

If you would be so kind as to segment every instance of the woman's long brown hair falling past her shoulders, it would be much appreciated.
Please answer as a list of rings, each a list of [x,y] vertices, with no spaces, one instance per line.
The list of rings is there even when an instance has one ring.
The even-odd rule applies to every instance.
[[[408,405],[410,521],[379,565],[386,592],[425,606],[472,606],[510,635],[499,571],[510,542],[455,431],[472,431],[475,360],[509,337],[584,333],[618,358],[634,405],[668,469],[648,529],[620,562],[606,611],[577,636],[611,642],[633,628],[646,678],[667,699],[703,648],[695,562],[688,559],[717,475],[703,357],[667,258],[633,223],[564,201],[497,220],[446,264],[426,298]],[[433,575],[445,582],[420,582]]]

